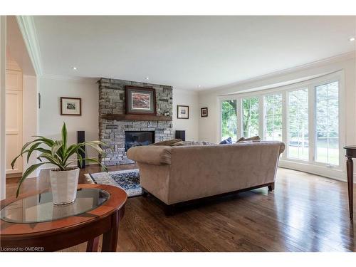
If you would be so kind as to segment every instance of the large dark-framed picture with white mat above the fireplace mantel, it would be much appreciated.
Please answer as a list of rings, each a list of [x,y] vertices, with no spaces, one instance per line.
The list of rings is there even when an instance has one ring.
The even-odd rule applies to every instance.
[[[126,114],[156,115],[156,91],[154,88],[125,86]]]

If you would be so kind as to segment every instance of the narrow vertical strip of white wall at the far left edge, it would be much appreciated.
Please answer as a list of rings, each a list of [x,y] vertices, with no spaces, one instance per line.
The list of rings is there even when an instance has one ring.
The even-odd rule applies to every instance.
[[[0,200],[6,196],[5,172],[6,16],[0,16]]]

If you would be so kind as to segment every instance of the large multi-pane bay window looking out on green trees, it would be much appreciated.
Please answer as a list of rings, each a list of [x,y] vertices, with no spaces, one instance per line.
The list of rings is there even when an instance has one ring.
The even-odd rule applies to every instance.
[[[333,73],[223,98],[221,140],[262,135],[262,140],[286,144],[281,155],[285,166],[313,164],[342,169],[340,144],[345,137],[340,140],[340,78],[340,73]]]

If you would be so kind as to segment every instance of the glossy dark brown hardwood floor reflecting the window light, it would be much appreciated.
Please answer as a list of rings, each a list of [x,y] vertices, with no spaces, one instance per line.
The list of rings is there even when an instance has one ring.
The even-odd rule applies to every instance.
[[[100,167],[81,169],[80,183],[88,172]],[[14,195],[16,182],[6,179],[7,196]],[[42,171],[24,182],[22,192],[46,187],[48,171]],[[255,189],[174,216],[164,216],[152,196],[128,199],[117,251],[355,251],[356,224],[347,209],[346,183],[280,168],[274,192]],[[85,246],[65,251],[85,251]]]

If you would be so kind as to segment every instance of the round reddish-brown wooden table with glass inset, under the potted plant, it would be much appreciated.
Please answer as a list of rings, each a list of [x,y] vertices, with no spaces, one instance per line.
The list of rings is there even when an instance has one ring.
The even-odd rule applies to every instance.
[[[88,241],[87,251],[116,251],[127,194],[104,184],[79,184],[77,199],[53,205],[48,189],[1,201],[1,251],[58,251]]]

